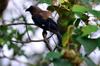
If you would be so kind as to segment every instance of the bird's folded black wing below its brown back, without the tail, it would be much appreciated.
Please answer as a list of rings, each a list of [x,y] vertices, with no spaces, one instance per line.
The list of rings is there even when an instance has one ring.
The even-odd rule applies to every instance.
[[[32,19],[35,22],[35,25],[42,29],[45,29],[51,32],[58,30],[57,24],[51,18],[48,18],[47,20],[45,20],[41,16],[37,15],[37,16],[32,17]]]

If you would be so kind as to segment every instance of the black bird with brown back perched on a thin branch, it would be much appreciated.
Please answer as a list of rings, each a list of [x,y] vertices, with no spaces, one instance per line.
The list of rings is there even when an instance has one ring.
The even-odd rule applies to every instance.
[[[30,6],[26,11],[31,13],[34,24],[43,29],[42,35],[46,35],[46,31],[56,34],[58,38],[58,46],[62,47],[62,35],[59,31],[58,24],[49,17],[51,16],[51,12],[44,11],[37,6]]]

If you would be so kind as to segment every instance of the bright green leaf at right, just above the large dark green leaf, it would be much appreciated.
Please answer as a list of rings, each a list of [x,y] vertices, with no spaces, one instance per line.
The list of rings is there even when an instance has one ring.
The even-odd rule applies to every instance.
[[[86,36],[91,34],[92,32],[96,32],[98,30],[98,27],[95,25],[87,25],[85,27],[82,28],[82,36]]]

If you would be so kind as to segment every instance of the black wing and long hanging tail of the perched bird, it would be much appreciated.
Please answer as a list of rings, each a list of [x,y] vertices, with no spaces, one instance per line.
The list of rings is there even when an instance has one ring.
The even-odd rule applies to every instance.
[[[48,30],[58,37],[58,45],[61,46],[62,44],[62,36],[61,33],[58,30],[57,24],[51,19],[48,18],[47,20],[44,20],[41,16],[34,16],[32,17],[33,21],[35,22],[35,25],[42,28],[43,30]]]

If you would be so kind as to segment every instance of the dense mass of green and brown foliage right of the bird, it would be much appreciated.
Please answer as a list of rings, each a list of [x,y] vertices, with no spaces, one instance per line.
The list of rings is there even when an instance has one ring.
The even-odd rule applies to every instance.
[[[100,46],[99,38],[92,39],[88,38],[88,36],[91,35],[91,33],[96,32],[99,27],[98,25],[89,24],[89,16],[86,13],[93,14],[97,19],[100,18],[100,14],[99,11],[92,9],[90,2],[97,3],[98,1],[60,0],[59,5],[50,5],[48,7],[48,10],[57,11],[57,13],[59,14],[58,25],[63,35],[63,48],[61,50],[62,57],[60,57],[59,59],[57,58],[56,63],[55,61],[52,61],[54,63],[54,66],[62,66],[63,59],[66,60],[63,60],[63,64],[65,64],[64,62],[66,62],[66,65],[68,66],[73,66],[73,64],[79,66],[82,61],[85,61],[88,66],[96,66],[96,64],[90,61],[87,56],[91,54],[91,52],[93,52],[96,47]],[[79,18],[76,18],[75,15],[77,15]],[[82,27],[78,27],[81,21],[83,21],[85,25],[83,25]],[[85,48],[87,55],[86,57],[80,56],[81,54],[79,53],[79,48],[81,45],[83,45]],[[47,57],[48,56],[49,55],[47,54]],[[49,57],[51,56],[54,57],[55,54],[51,53]]]

